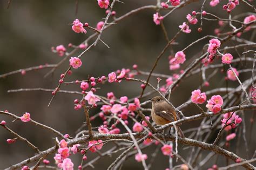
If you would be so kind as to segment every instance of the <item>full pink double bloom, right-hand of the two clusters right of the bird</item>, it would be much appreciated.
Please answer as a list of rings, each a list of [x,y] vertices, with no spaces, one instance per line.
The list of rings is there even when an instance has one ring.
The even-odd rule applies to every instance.
[[[221,111],[223,105],[223,98],[220,95],[212,96],[210,100],[207,100],[206,107],[213,113]]]

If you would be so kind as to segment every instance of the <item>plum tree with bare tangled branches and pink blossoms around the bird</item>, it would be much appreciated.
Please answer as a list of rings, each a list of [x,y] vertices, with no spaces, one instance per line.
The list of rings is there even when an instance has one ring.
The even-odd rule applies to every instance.
[[[251,157],[255,157],[255,154],[250,155],[250,158],[242,158],[238,156],[235,149],[229,147],[232,145],[232,140],[241,138],[239,132],[243,133],[245,143],[247,143],[245,136],[245,133],[247,133],[244,122],[246,121],[245,115],[246,112],[251,112],[251,110],[256,109],[256,105],[254,104],[256,97],[254,86],[256,78],[254,75],[256,43],[250,39],[246,39],[246,36],[245,38],[243,37],[244,33],[251,33],[251,37],[255,39],[256,15],[255,13],[244,11],[244,13],[235,16],[232,15],[232,12],[239,8],[240,5],[249,6],[252,12],[255,12],[255,6],[252,5],[252,1],[247,2],[243,0],[239,2],[239,0],[228,0],[223,6],[224,10],[221,11],[227,13],[228,17],[222,18],[219,16],[220,12],[214,14],[205,11],[204,5],[206,5],[205,3],[207,2],[205,0],[200,1],[201,10],[183,13],[184,19],[180,21],[180,24],[182,24],[175,28],[177,33],[170,39],[168,35],[169,31],[165,29],[165,18],[170,17],[173,11],[179,10],[193,2],[195,1],[169,0],[161,2],[157,0],[156,5],[141,6],[116,17],[118,13],[122,12],[113,11],[114,5],[117,3],[123,4],[121,1],[98,0],[95,2],[95,5],[98,5],[99,10],[106,10],[106,16],[103,21],[99,21],[96,24],[96,28],[93,28],[91,24],[83,24],[79,19],[74,18],[70,26],[74,34],[88,34],[85,29],[90,29],[94,31],[94,33],[77,46],[70,43],[66,47],[62,44],[53,47],[52,52],[63,57],[58,64],[29,67],[0,75],[0,78],[3,78],[14,73],[24,75],[27,71],[52,68],[49,72],[50,74],[55,72],[60,65],[64,65],[63,61],[68,59],[69,64],[65,65],[67,68],[66,71],[60,74],[59,80],[56,80],[58,86],[51,90],[52,98],[48,106],[53,105],[53,100],[57,100],[55,97],[58,93],[77,93],[80,95],[80,98],[74,100],[74,109],[83,110],[86,120],[86,123],[81,125],[82,128],[80,128],[80,131],[76,134],[62,134],[50,126],[43,125],[33,120],[33,113],[24,113],[19,117],[18,114],[10,113],[8,110],[0,111],[1,114],[9,115],[16,121],[21,120],[24,124],[31,123],[35,126],[37,125],[56,135],[55,144],[53,143],[52,147],[41,151],[39,150],[41,148],[36,147],[35,144],[32,144],[29,140],[22,137],[22,135],[12,131],[9,128],[11,122],[2,120],[0,125],[15,137],[6,139],[8,144],[15,145],[14,143],[17,140],[21,140],[35,150],[34,156],[25,158],[23,161],[17,162],[7,169],[87,169],[87,167],[93,167],[93,164],[97,164],[97,161],[102,159],[104,155],[111,156],[120,151],[122,151],[122,153],[120,153],[113,162],[110,162],[107,169],[118,169],[122,167],[129,157],[132,157],[137,164],[142,164],[144,169],[150,169],[157,152],[161,152],[161,154],[169,158],[170,166],[166,167],[167,169],[172,169],[174,165],[180,169],[202,169],[203,167],[203,169],[218,169],[219,165],[214,165],[213,163],[211,165],[212,167],[204,166],[214,157],[213,153],[223,155],[226,159],[233,161],[229,162],[225,167],[222,167],[223,169],[235,166],[255,169],[255,164],[253,164],[255,158],[251,159]],[[129,1],[126,3],[129,3]],[[219,5],[219,3],[219,0],[212,0],[210,6],[214,8],[214,6]],[[86,55],[87,51],[97,50],[96,45],[98,43],[103,43],[109,48],[109,45],[102,39],[102,34],[106,29],[111,29],[112,25],[123,20],[125,21],[125,17],[133,13],[139,13],[148,8],[155,10],[155,13],[151,13],[152,22],[154,22],[154,26],[161,26],[165,39],[167,40],[167,44],[163,47],[159,55],[156,56],[156,61],[148,72],[140,70],[139,66],[134,64],[131,69],[120,68],[120,70],[107,72],[105,75],[98,75],[97,77],[84,75],[84,78],[81,80],[65,81],[66,77],[72,77],[73,69],[79,70],[80,67],[86,66],[86,62],[83,62],[83,57]],[[192,40],[183,50],[173,51],[172,46],[179,43],[177,37],[181,34],[204,31],[203,21],[218,21],[220,29],[215,30],[215,35],[206,35]],[[65,24],[67,23],[63,23],[63,25]],[[194,30],[190,28],[191,24],[198,24],[198,29]],[[96,40],[91,42],[91,37],[96,37]],[[187,49],[192,48],[201,40],[207,40],[208,43],[206,43],[202,49],[197,49],[199,55],[192,57],[190,53],[186,53]],[[227,42],[232,42],[233,45],[227,46]],[[93,47],[96,48],[93,49]],[[82,52],[80,52],[80,55],[74,56],[74,52],[70,51],[71,48],[73,48],[73,51],[82,50]],[[167,52],[168,49],[171,49],[170,52]],[[240,52],[238,49],[243,49],[243,51]],[[163,58],[164,53],[169,55],[169,59],[166,61],[169,63],[169,67],[166,69],[170,70],[170,74],[167,75],[154,72],[158,61]],[[188,59],[190,60],[188,61]],[[247,69],[242,65],[242,62],[250,63],[250,68]],[[185,64],[184,69],[180,70],[181,66]],[[211,73],[208,73],[208,70],[211,70]],[[250,78],[240,78],[240,74],[248,72],[250,73]],[[192,95],[190,95],[187,101],[183,101],[183,104],[174,107],[170,102],[172,92],[178,89],[179,85],[183,84],[184,79],[193,74],[198,74],[201,77],[201,81],[197,81],[198,88],[196,90],[190,89]],[[213,79],[215,75],[217,75],[217,78],[214,78],[215,81],[219,81],[218,78],[221,77],[221,79],[226,82],[226,86],[219,87],[210,85],[209,81]],[[139,76],[145,76],[145,78],[138,78]],[[150,79],[152,80],[152,77],[157,77],[153,80],[154,83],[157,83],[157,86],[151,83]],[[165,79],[165,81],[163,81],[164,83],[161,82],[161,79]],[[228,82],[230,80],[237,82],[237,87],[229,87]],[[141,93],[136,97],[130,98],[127,97],[129,94],[116,97],[114,89],[112,92],[107,93],[106,96],[97,94],[100,90],[98,87],[104,86],[104,84],[107,83],[118,84],[122,81],[127,84],[128,81],[138,82],[140,84]],[[63,84],[74,84],[80,88],[80,91],[65,91],[63,90]],[[210,90],[205,90],[205,87],[210,88]],[[145,93],[145,90],[149,89],[150,91]],[[48,91],[46,89],[38,90]],[[22,91],[22,89],[12,90],[12,92],[17,91]],[[26,89],[26,91],[29,91],[29,89]],[[164,97],[165,100],[174,107],[174,110],[179,115],[179,119],[163,126],[155,126],[150,116],[145,116],[151,111],[151,108],[146,105],[150,103],[150,101],[145,100],[145,98],[149,97],[151,94]],[[185,109],[193,107],[193,105],[197,107],[198,112],[191,113],[190,115],[185,114]],[[100,108],[100,112],[93,114],[91,110],[96,107]],[[255,114],[255,112],[253,114]],[[97,126],[96,130],[92,128],[96,126],[94,123],[95,118],[99,118],[101,122],[101,125]],[[194,132],[192,130],[185,130],[184,128],[186,138],[180,138],[175,125],[186,125],[188,121],[194,120],[200,120],[200,125],[194,128]],[[251,124],[253,123],[254,121],[252,119]],[[244,124],[244,126],[241,126],[241,124]],[[170,127],[174,127],[171,133],[159,133]],[[122,130],[122,128],[125,130]],[[214,135],[214,141],[208,140],[210,135]],[[112,145],[112,148],[108,147],[108,149],[104,150],[104,145],[111,142],[114,142],[116,145]],[[187,145],[191,153],[184,155],[179,154],[180,149],[185,149],[179,144]],[[247,145],[245,146],[247,147]],[[157,149],[153,154],[150,154],[145,151],[147,147],[156,147]],[[196,148],[197,151],[195,150]],[[201,149],[207,150],[206,157],[199,157]],[[104,152],[102,152],[103,150]],[[99,157],[89,158],[87,155],[88,152],[93,154],[99,153]],[[248,155],[248,148],[246,152]],[[54,155],[52,160],[47,158],[50,154]],[[79,165],[74,164],[72,161],[71,155],[74,154],[80,155],[81,163]],[[179,160],[179,162],[176,159]]]

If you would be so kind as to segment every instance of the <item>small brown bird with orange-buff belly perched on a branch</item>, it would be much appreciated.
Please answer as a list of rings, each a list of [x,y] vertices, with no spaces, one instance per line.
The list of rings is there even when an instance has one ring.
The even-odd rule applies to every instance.
[[[179,115],[176,113],[174,108],[170,106],[163,97],[156,96],[152,99],[152,110],[151,117],[157,125],[165,125],[169,124],[172,121],[179,120]],[[178,130],[178,134],[181,138],[184,138],[184,134],[181,131],[179,126],[176,126]]]

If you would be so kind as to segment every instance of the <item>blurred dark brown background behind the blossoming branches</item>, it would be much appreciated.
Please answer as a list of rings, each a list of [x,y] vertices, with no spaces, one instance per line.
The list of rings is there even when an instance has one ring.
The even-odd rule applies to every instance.
[[[124,15],[126,12],[132,9],[139,8],[140,6],[156,4],[156,1],[151,0],[123,0],[123,3],[116,3],[114,10],[117,12],[117,17]],[[172,13],[172,15],[164,19],[169,38],[173,37],[179,30],[178,26],[183,22],[186,22],[187,13],[194,11],[200,11],[203,1],[198,1],[186,5],[184,8],[178,9]],[[205,10],[207,12],[218,15],[221,18],[228,18],[226,11],[222,9],[222,6],[227,1],[221,2],[218,6],[212,8],[209,2],[205,4]],[[63,44],[67,51],[71,51],[72,48],[68,48],[68,44],[79,45],[93,32],[87,29],[87,34],[78,34],[72,31],[71,25],[76,18],[82,23],[89,23],[91,26],[96,27],[99,21],[105,17],[105,10],[100,9],[96,1],[78,1],[78,13],[76,15],[76,1],[11,1],[9,9],[6,9],[8,1],[0,1],[0,74],[24,69],[31,66],[38,66],[58,63],[62,57],[59,57],[57,53],[51,52],[52,46]],[[237,15],[242,12],[252,11],[245,4],[241,4],[232,11],[232,15]],[[160,26],[155,25],[153,22],[153,9],[147,9],[136,13],[128,18],[123,19],[118,24],[111,26],[111,28],[105,30],[102,35],[102,40],[110,46],[110,49],[99,42],[96,48],[91,49],[82,57],[83,65],[77,70],[73,70],[72,76],[68,76],[65,81],[83,80],[88,76],[107,76],[108,73],[116,71],[122,68],[132,68],[133,64],[138,64],[139,70],[149,72],[153,66],[156,57],[166,44],[163,32]],[[161,11],[161,14],[167,11]],[[112,19],[112,18],[111,18]],[[239,18],[240,21],[244,20],[244,17]],[[200,23],[197,25],[190,25],[192,32],[190,34],[181,33],[176,42],[179,45],[174,45],[173,50],[175,52],[184,49],[188,44],[194,40],[203,37],[205,35],[214,35],[214,29],[219,28],[218,22],[204,21],[203,31],[199,33],[197,29],[200,27]],[[250,39],[252,31],[246,32],[242,35],[242,38]],[[205,39],[198,44],[194,45],[186,51],[187,61],[181,67],[185,68],[191,59],[201,53],[203,46],[208,43],[209,39]],[[254,39],[255,40],[255,39]],[[89,44],[92,41],[89,42]],[[237,42],[227,42],[224,45],[233,45]],[[223,46],[221,46],[223,47]],[[83,50],[73,56],[78,56]],[[239,52],[241,53],[242,51]],[[166,52],[164,56],[159,60],[159,63],[154,72],[169,74],[179,71],[169,70],[169,57],[170,53]],[[234,58],[238,58],[236,53],[233,53]],[[194,59],[194,58],[193,58]],[[27,72],[24,76],[22,74],[14,74],[6,78],[0,79],[0,110],[8,110],[11,113],[15,113],[19,116],[25,112],[31,114],[31,118],[42,124],[48,125],[63,134],[70,134],[71,137],[75,136],[76,130],[83,124],[85,117],[82,110],[75,111],[73,109],[73,100],[80,99],[80,96],[58,93],[53,100],[50,107],[47,107],[52,95],[50,92],[32,91],[32,92],[17,92],[7,93],[10,89],[21,88],[35,88],[43,87],[46,89],[55,89],[58,85],[59,75],[63,73],[69,66],[68,60],[62,64],[58,69],[47,78],[43,78],[50,69],[43,69],[37,71]],[[244,67],[251,68],[252,63],[244,65]],[[207,73],[208,74],[208,73]],[[204,91],[225,87],[224,81],[225,74],[219,72],[211,81],[209,87],[204,87]],[[241,80],[245,80],[251,77],[251,73],[240,74]],[[146,79],[147,77],[140,77]],[[151,77],[150,82],[156,85],[156,77]],[[164,83],[163,80],[162,83]],[[177,90],[172,93],[171,101],[174,106],[187,101],[191,96],[191,91],[197,89],[200,85],[200,77],[198,75],[187,78],[182,81]],[[228,86],[237,87],[237,82],[229,81]],[[106,96],[107,92],[114,92],[117,98],[127,96],[129,98],[138,96],[142,89],[140,84],[136,82],[122,83],[106,83],[104,86],[100,86],[100,90],[97,94]],[[62,90],[74,90],[80,91],[79,85],[73,84],[69,86],[63,85]],[[149,88],[146,92],[150,91]],[[152,95],[152,97],[154,94]],[[208,98],[207,98],[208,99]],[[147,107],[151,107],[148,105]],[[93,115],[99,112],[99,108],[92,109],[90,114]],[[205,108],[205,107],[204,107]],[[196,108],[189,108],[184,111],[185,115],[193,115],[198,113]],[[249,122],[252,117],[251,111],[245,112],[246,122]],[[150,114],[146,113],[145,114]],[[26,139],[39,147],[41,151],[52,147],[54,145],[53,135],[51,132],[42,130],[42,128],[36,127],[30,123],[22,123],[21,121],[15,121],[11,123],[12,119],[6,115],[0,115],[0,120],[5,120],[6,125],[13,131],[22,135]],[[191,127],[197,127],[199,121],[192,121],[186,125],[182,125],[183,130],[187,130]],[[102,124],[102,120],[96,119],[92,122],[92,126],[96,127]],[[238,128],[241,128],[239,126]],[[231,151],[234,151],[235,147],[239,147],[238,154],[242,158],[251,158],[255,151],[255,126],[251,128],[250,124],[246,126],[247,132],[246,138],[250,139],[248,157],[245,153],[244,143],[241,139],[240,145],[236,146],[236,139],[231,142]],[[213,134],[215,134],[213,132]],[[6,139],[14,138],[9,132],[0,128],[0,169],[9,167],[12,164],[31,157],[34,152],[24,142],[17,141],[15,144],[7,144]],[[213,135],[212,140],[215,138]],[[208,141],[210,142],[210,141]],[[233,144],[233,145],[232,145]],[[110,147],[104,146],[104,149]],[[179,145],[179,153],[184,158],[187,156],[188,150],[183,150],[185,146]],[[144,152],[150,155],[154,152],[156,146],[152,145]],[[209,153],[203,151],[204,155]],[[112,158],[106,157],[95,165],[95,169],[106,169],[110,162],[113,161],[118,154],[113,155]],[[89,153],[87,155],[88,160],[96,157],[95,154]],[[72,155],[72,160],[75,167],[80,164],[80,156]],[[213,157],[212,161],[208,162],[203,169],[210,168],[213,164],[218,166],[225,166],[226,161],[224,157]],[[51,165],[54,165],[52,155],[47,159],[51,161]],[[149,160],[148,160],[149,161]],[[131,164],[133,162],[133,164]],[[181,162],[174,162],[174,165]],[[32,165],[32,164],[31,164]],[[165,169],[169,167],[168,158],[163,154],[158,153],[156,161],[152,165],[152,169]],[[129,158],[123,165],[123,169],[142,169],[142,164],[134,164],[134,157]],[[92,169],[88,167],[86,169]]]

